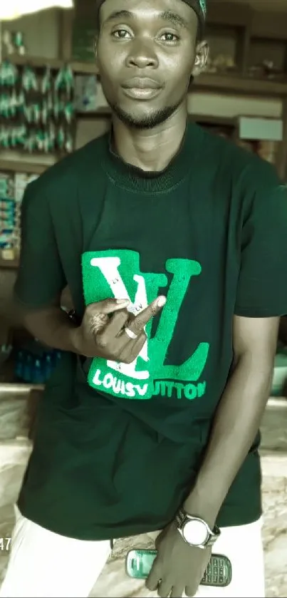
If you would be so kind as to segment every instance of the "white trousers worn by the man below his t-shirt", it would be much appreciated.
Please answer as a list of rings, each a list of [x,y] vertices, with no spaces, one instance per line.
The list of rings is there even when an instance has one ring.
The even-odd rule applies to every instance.
[[[150,541],[156,535],[130,538],[128,550],[145,547],[147,536]],[[115,542],[116,553],[120,542]],[[105,567],[110,557],[109,541],[73,540],[55,534],[27,520],[16,509],[9,565],[0,598],[157,596],[145,588],[142,580],[127,577],[126,552],[126,548],[119,549],[118,558],[112,556]],[[200,586],[198,598],[264,597],[261,520],[250,525],[222,528],[214,552],[229,557],[231,584],[225,588]],[[106,572],[103,572],[104,568]]]

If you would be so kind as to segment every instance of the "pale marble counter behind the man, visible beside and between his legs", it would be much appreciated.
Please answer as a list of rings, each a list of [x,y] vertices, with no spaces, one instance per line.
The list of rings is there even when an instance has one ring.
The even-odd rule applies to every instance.
[[[22,390],[22,389],[21,389]],[[1,389],[0,389],[1,391]],[[21,391],[15,396],[19,403]],[[7,401],[4,401],[7,402]],[[21,401],[20,401],[21,402]],[[0,401],[1,403],[1,401]],[[9,401],[8,401],[9,403]],[[11,397],[11,403],[14,403]],[[1,411],[3,428],[11,423],[5,413],[4,403]],[[9,417],[8,417],[9,416]],[[266,563],[266,598],[287,596],[287,399],[270,398],[261,425],[261,464],[263,474],[263,542]],[[19,493],[21,480],[31,452],[31,441],[22,437],[0,441],[0,537],[10,537],[14,525],[13,504]],[[150,535],[140,538],[142,547],[152,547]],[[152,594],[147,592],[142,582],[131,580],[125,574],[125,555],[132,547],[132,538],[116,542],[113,555],[108,560],[103,573],[90,594],[93,598],[142,597]],[[8,555],[0,552],[0,584],[4,577]]]

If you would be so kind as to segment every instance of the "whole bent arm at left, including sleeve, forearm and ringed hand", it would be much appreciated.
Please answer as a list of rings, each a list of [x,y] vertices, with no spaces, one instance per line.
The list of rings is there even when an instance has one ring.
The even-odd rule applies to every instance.
[[[128,299],[107,298],[88,305],[80,326],[74,324],[61,309],[67,281],[48,198],[41,187],[41,181],[29,185],[22,205],[21,256],[14,294],[24,326],[54,349],[132,363],[145,344],[145,325],[162,309],[165,297],[157,297],[134,319],[126,309]],[[135,339],[125,333],[126,325]]]

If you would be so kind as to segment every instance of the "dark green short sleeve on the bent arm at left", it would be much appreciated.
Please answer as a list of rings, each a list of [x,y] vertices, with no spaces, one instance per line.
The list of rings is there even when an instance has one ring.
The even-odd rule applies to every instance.
[[[16,301],[37,309],[51,304],[66,286],[48,198],[40,180],[26,188],[21,209],[21,255]]]

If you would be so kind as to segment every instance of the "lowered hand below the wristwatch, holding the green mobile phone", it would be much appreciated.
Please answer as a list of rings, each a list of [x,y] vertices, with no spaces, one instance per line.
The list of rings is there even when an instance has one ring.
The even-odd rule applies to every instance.
[[[197,548],[184,542],[175,522],[157,537],[157,558],[147,578],[147,588],[157,589],[162,598],[194,596],[212,556],[211,548]]]

